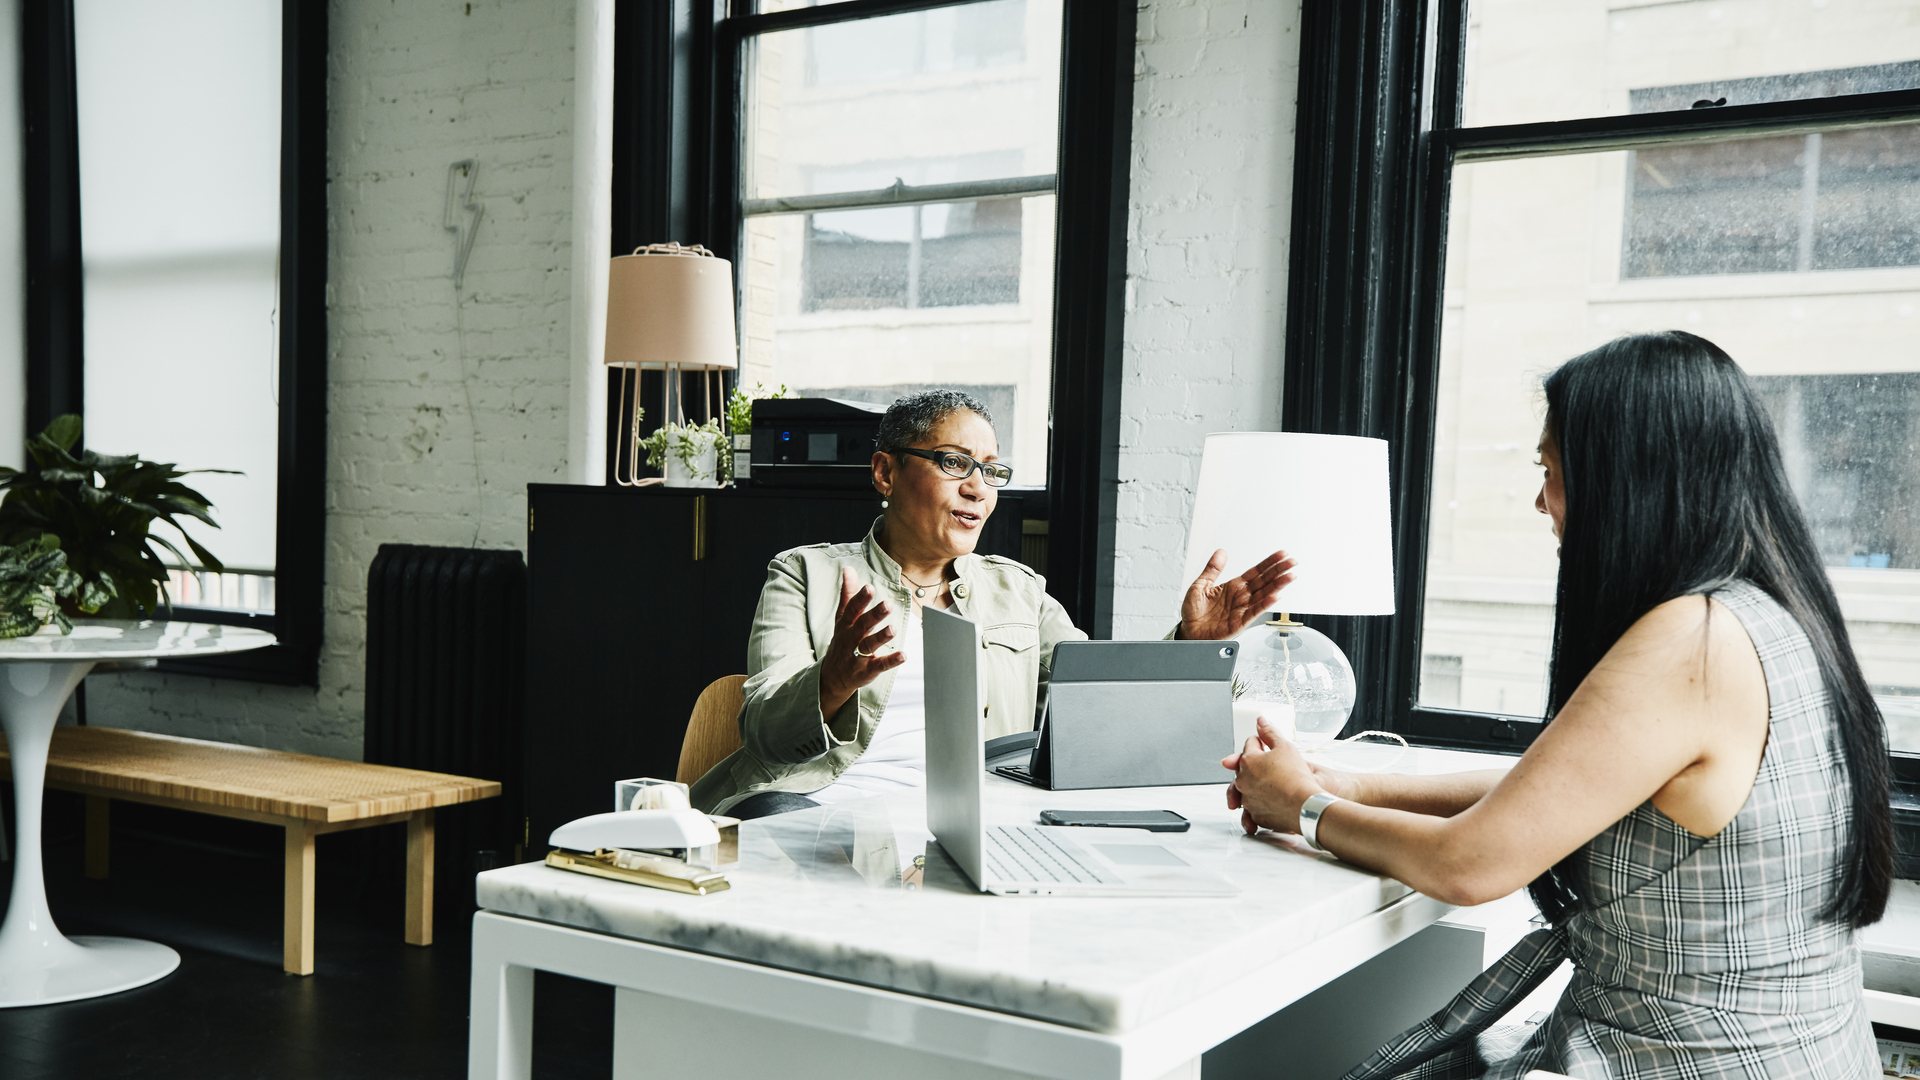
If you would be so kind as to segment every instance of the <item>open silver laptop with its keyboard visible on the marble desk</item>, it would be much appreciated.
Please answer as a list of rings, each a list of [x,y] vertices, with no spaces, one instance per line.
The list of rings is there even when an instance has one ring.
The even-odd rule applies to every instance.
[[[1000,896],[1235,896],[1238,886],[1162,844],[1096,830],[987,826],[979,626],[925,609],[927,830],[981,892]],[[1064,836],[1077,832],[1081,836]],[[1089,836],[1092,834],[1092,836]]]

